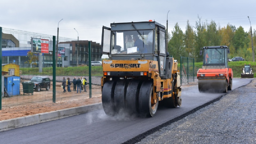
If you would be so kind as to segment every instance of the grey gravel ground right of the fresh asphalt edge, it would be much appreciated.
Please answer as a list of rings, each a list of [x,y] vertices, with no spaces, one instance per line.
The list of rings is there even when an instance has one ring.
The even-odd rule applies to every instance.
[[[256,79],[138,143],[256,143]]]

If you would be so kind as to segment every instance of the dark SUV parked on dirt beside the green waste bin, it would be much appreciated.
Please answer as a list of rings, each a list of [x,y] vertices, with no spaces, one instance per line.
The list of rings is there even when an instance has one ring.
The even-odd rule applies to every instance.
[[[48,77],[35,76],[32,77],[30,81],[34,82],[34,90],[38,92],[43,88],[45,88],[46,90],[50,89],[51,81]]]

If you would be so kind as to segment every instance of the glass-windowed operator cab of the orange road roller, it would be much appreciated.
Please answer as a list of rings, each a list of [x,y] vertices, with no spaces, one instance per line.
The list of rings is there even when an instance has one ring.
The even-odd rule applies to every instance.
[[[225,66],[227,65],[227,46],[204,46],[203,48],[203,66]],[[202,55],[202,51],[200,52]]]

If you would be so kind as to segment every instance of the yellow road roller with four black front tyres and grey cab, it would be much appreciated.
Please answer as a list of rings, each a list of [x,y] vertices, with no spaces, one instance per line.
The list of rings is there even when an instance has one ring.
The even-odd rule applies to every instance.
[[[111,23],[102,28],[102,106],[107,115],[121,111],[153,117],[159,101],[181,106],[178,63],[166,49],[165,26],[155,22]]]

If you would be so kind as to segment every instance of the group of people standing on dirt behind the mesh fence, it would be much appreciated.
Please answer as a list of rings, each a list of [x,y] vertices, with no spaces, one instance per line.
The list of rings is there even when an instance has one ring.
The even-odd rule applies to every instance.
[[[81,89],[82,89],[82,91],[87,92],[86,91],[87,79],[85,77],[81,77],[81,79],[79,77],[78,77],[78,79],[76,79],[76,77],[74,77],[72,82],[73,82],[73,91],[77,91],[77,93],[78,93],[78,89],[79,89],[79,92],[81,93]],[[66,92],[66,86],[67,86],[67,91],[71,92],[71,90],[70,90],[70,85],[71,85],[70,78],[67,78],[67,80],[66,80],[65,77],[63,77],[61,85],[63,86],[63,90],[64,90],[63,93]]]

